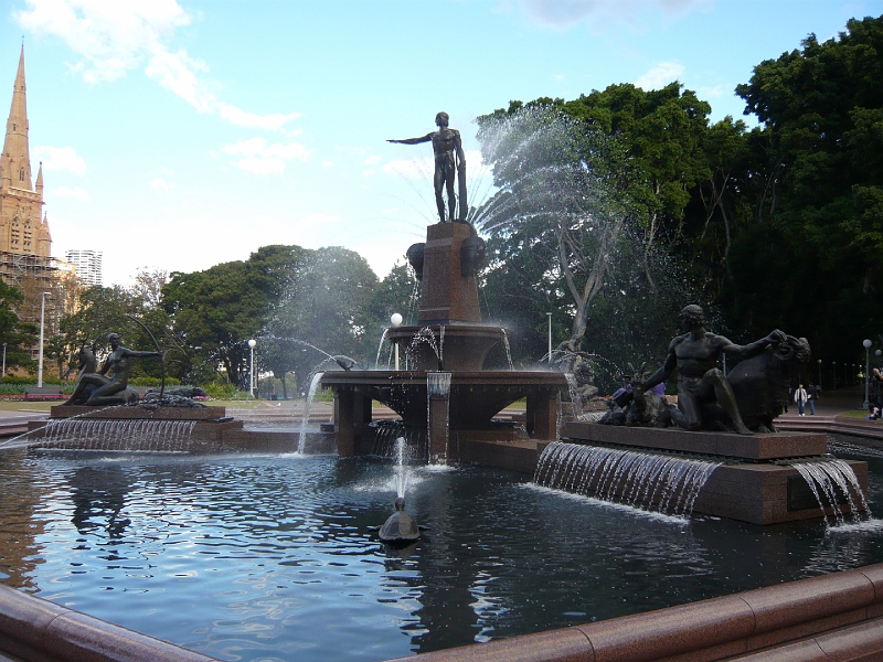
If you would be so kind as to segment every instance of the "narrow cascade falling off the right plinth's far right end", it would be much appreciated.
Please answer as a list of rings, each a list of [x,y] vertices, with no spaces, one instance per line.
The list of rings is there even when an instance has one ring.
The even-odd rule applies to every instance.
[[[864,512],[866,519],[871,519],[871,508],[855,472],[848,462],[834,458],[819,458],[792,461],[790,466],[797,469],[807,481],[816,501],[819,502],[821,512],[826,513],[826,520],[830,509],[836,525],[845,524],[845,513],[841,506],[843,502],[849,505],[853,523],[861,521],[860,511]]]

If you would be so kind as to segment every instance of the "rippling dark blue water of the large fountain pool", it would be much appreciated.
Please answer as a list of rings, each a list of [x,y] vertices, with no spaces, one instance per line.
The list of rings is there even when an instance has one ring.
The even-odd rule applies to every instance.
[[[7,451],[0,580],[224,660],[383,660],[883,560],[875,522],[687,521],[480,467],[413,468],[432,528],[393,551],[395,490],[365,458]]]

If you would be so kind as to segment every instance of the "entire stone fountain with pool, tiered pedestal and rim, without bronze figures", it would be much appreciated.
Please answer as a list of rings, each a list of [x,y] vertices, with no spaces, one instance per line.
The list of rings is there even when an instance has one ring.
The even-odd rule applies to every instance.
[[[773,521],[822,513],[845,524],[849,512],[868,510],[857,489],[868,480],[864,462],[828,457],[825,438],[812,435],[570,421],[560,441],[558,397],[567,387],[561,372],[483,370],[488,352],[507,339],[481,323],[478,247],[470,226],[442,223],[429,227],[425,250],[409,252],[423,267],[418,324],[385,334],[405,351],[406,370],[322,373],[310,387],[334,391],[340,456],[395,445],[396,495],[408,491],[418,519],[433,525],[432,540],[413,558],[387,554],[366,535],[369,523],[389,512],[385,495],[376,496],[377,484],[386,484],[377,476],[389,472],[385,463],[280,456],[294,450],[290,442],[256,439],[243,447],[277,455],[206,460],[192,455],[200,426],[209,436],[223,433],[204,451],[227,449],[228,439],[247,435],[223,410],[206,418],[163,407],[152,414],[68,407],[53,410],[52,421],[34,433],[46,446],[119,450],[130,438],[128,450],[191,452],[0,455],[0,482],[11,496],[0,511],[9,540],[0,577],[224,659],[380,659],[566,626],[450,656],[685,659],[695,652],[712,660],[880,613],[880,566],[866,576],[852,570],[808,579],[806,589],[760,588],[879,562],[873,541],[842,554],[840,534],[831,542],[829,530],[811,522],[762,532],[716,516],[683,516],[765,523],[768,513]],[[521,397],[530,438],[494,419]],[[372,401],[396,410],[401,426],[373,424]],[[199,420],[184,423],[188,416]],[[160,428],[168,444],[141,445]],[[424,466],[415,469],[422,489],[408,489],[406,446],[433,463],[478,460],[535,480],[478,463],[458,471]],[[781,513],[787,516],[775,520]],[[758,590],[727,597],[746,589]],[[715,602],[683,605],[709,598]],[[113,644],[105,648],[116,648],[117,638],[141,647],[140,656],[114,659],[204,660],[181,650],[151,652],[156,642],[23,591],[3,588],[0,604],[13,606],[0,610],[0,656],[56,659],[53,650],[66,647],[66,659],[81,650],[110,659],[93,641],[77,640],[97,632]],[[38,619],[45,629],[33,627]]]

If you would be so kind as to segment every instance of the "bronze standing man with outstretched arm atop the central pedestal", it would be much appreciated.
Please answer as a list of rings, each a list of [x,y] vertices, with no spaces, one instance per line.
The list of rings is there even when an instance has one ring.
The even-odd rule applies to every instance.
[[[437,131],[426,134],[421,138],[407,138],[405,140],[387,140],[400,145],[418,145],[421,142],[433,142],[435,152],[435,204],[438,207],[438,218],[445,222],[445,201],[442,199],[442,189],[447,189],[448,193],[448,220],[454,223],[467,223],[466,215],[469,213],[469,205],[466,201],[466,154],[462,152],[460,132],[457,129],[448,128],[450,117],[447,113],[439,113],[435,116]],[[454,175],[457,174],[459,184],[459,207],[460,214],[456,215],[457,199],[454,196]]]

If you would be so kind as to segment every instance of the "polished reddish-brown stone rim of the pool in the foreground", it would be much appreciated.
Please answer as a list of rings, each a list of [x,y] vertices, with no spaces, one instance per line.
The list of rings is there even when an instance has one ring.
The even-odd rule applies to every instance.
[[[25,662],[216,660],[7,586],[0,586],[0,653]],[[594,623],[424,653],[416,659],[421,662],[797,661],[829,659],[828,654],[834,659],[883,659],[883,564]]]

